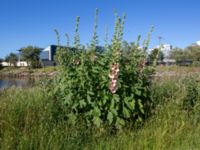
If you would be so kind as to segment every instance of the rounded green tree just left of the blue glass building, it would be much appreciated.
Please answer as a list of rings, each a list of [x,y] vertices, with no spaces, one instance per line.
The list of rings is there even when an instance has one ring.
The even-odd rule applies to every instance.
[[[32,68],[40,67],[41,48],[27,46],[21,49],[22,58],[27,61],[28,66]]]

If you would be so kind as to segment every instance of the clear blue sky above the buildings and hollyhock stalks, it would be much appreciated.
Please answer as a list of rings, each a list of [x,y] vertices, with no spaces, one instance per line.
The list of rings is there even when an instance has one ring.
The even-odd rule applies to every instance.
[[[0,57],[28,45],[56,44],[54,29],[66,43],[73,43],[75,18],[80,16],[81,43],[87,44],[93,32],[95,8],[99,8],[98,36],[104,44],[106,25],[109,40],[114,26],[113,10],[127,14],[124,40],[143,39],[155,27],[150,47],[163,43],[186,47],[200,40],[200,0],[0,0]]]

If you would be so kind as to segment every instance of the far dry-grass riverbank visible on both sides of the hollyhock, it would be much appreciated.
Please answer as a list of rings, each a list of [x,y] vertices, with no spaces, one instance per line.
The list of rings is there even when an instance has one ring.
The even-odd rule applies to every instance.
[[[188,76],[199,74],[200,67],[184,67],[184,66],[157,66],[156,77],[163,76]],[[37,77],[52,77],[57,73],[57,67],[44,67],[37,69],[28,69],[27,67],[5,67],[0,70],[0,77],[11,77],[11,78],[37,78]]]

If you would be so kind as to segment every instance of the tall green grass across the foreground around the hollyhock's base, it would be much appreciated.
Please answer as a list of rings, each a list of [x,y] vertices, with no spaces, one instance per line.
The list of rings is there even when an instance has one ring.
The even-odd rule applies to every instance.
[[[42,89],[1,91],[0,149],[198,149],[199,115],[182,107],[188,93],[183,79],[157,80],[153,91],[154,115],[117,134],[55,121]]]

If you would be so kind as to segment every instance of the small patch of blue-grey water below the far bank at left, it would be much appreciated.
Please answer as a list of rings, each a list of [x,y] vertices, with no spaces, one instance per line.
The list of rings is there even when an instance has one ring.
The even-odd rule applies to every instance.
[[[5,88],[27,88],[31,87],[32,82],[28,78],[0,78],[0,89]]]

